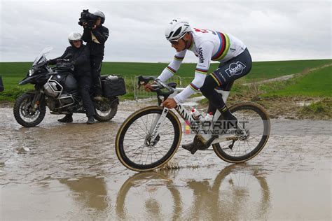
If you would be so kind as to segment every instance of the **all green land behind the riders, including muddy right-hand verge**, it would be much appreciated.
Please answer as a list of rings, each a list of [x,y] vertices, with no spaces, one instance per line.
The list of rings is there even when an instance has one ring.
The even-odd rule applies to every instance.
[[[308,71],[319,66],[331,64],[331,59],[285,61],[285,62],[254,62],[248,76],[235,82],[228,105],[240,101],[255,101],[268,109],[272,117],[280,115],[289,118],[332,119],[332,68]],[[212,64],[210,71],[218,64]],[[5,90],[0,93],[0,101],[14,101],[20,94],[33,89],[33,85],[18,86],[25,77],[31,63],[0,63],[0,74],[3,76]],[[134,98],[134,76],[156,76],[167,64],[162,63],[116,63],[104,62],[102,74],[115,73],[125,78],[127,94],[120,99]],[[193,77],[195,64],[183,64],[178,74],[181,77]],[[258,80],[276,78],[298,73],[295,78],[271,83],[256,84]],[[184,79],[183,85],[188,85],[191,79]],[[244,83],[251,83],[244,86]],[[300,106],[305,101],[305,106]],[[201,106],[207,106],[203,99]]]

